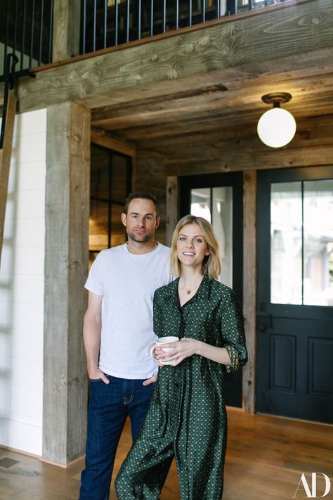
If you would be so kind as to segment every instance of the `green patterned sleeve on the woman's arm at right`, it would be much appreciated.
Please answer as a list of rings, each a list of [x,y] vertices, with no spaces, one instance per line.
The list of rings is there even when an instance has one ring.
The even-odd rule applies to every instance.
[[[223,347],[226,347],[231,360],[231,365],[226,366],[226,371],[228,373],[237,371],[247,362],[247,348],[242,309],[233,290],[230,290],[223,301],[221,332]]]

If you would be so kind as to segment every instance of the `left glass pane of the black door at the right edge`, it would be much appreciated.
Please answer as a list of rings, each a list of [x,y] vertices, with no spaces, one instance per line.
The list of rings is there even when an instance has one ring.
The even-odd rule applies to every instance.
[[[302,303],[301,182],[270,189],[270,302]]]

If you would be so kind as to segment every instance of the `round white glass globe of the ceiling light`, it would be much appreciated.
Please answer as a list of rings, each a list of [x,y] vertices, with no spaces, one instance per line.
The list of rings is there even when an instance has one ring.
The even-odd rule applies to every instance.
[[[296,122],[289,111],[272,108],[259,119],[257,132],[261,141],[270,148],[281,148],[289,143],[296,132]]]

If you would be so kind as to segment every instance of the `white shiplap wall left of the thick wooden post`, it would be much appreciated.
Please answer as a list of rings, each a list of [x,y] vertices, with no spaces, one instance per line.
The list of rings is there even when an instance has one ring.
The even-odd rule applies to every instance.
[[[15,117],[0,267],[0,445],[41,455],[46,110]]]

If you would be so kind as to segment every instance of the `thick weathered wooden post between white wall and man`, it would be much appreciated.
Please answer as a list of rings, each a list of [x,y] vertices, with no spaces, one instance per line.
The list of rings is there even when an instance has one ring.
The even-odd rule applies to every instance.
[[[48,108],[42,458],[61,464],[84,454],[86,434],[90,128],[83,105]]]

